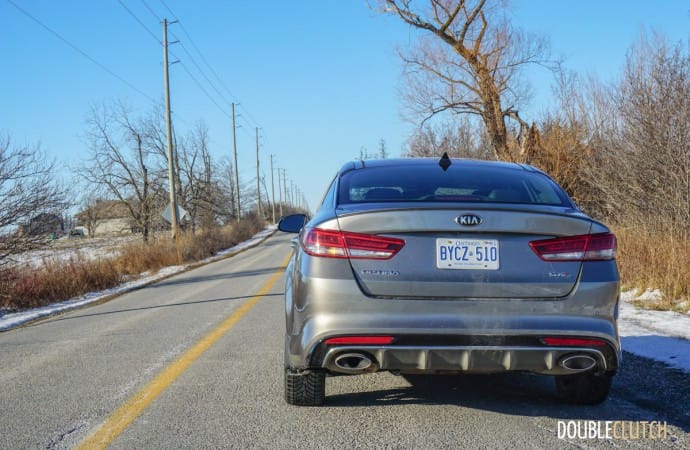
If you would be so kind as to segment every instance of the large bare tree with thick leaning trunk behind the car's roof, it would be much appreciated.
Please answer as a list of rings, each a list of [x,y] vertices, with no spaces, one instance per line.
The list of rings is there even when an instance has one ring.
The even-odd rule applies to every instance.
[[[537,130],[520,118],[518,106],[528,92],[521,80],[527,64],[546,64],[544,39],[514,29],[500,0],[380,0],[387,13],[426,31],[416,48],[402,55],[407,69],[404,99],[416,116],[442,113],[479,116],[494,157],[516,160],[506,119],[520,124],[520,150]],[[427,3],[427,2],[424,2]]]

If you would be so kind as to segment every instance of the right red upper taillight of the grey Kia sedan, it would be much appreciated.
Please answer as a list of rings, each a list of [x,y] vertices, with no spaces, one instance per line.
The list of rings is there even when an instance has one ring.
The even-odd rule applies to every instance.
[[[544,261],[605,261],[616,257],[616,236],[612,233],[544,239],[529,246]]]

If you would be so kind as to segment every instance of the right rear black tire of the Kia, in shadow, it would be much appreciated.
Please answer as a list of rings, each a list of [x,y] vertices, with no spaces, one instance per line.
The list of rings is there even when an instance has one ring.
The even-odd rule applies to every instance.
[[[556,395],[568,403],[598,405],[608,397],[612,380],[609,372],[559,375],[555,377]]]

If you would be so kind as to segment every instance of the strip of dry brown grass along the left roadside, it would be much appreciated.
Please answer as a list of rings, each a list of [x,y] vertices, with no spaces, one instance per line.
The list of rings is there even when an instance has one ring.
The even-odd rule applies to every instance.
[[[232,226],[185,234],[180,239],[183,262],[195,262],[247,240],[261,230],[255,218]],[[23,310],[84,295],[121,284],[144,272],[155,273],[178,264],[169,237],[124,245],[117,256],[85,261],[78,255],[67,262],[46,259],[35,269],[12,267],[0,272],[0,307]]]

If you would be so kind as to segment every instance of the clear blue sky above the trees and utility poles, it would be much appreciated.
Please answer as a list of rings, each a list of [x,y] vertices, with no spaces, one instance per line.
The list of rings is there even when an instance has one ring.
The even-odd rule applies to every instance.
[[[229,103],[239,102],[243,181],[255,174],[256,126],[264,175],[270,182],[273,154],[312,208],[335,170],[361,148],[374,152],[384,139],[397,156],[413,130],[400,116],[396,48],[414,33],[394,17],[373,13],[366,0],[12,1],[136,88],[0,0],[0,132],[17,145],[40,143],[64,167],[65,178],[73,176],[67,167],[88,159],[84,132],[91,105],[119,99],[145,112],[152,100],[162,100],[157,40],[163,17],[177,17],[183,26],[170,26],[170,39],[184,45],[170,47],[171,59],[184,64],[170,70],[176,128],[184,133],[203,120],[214,156],[230,156]],[[673,42],[690,37],[687,1],[514,0],[511,7],[514,24],[547,35],[552,53],[568,68],[603,80],[617,76],[643,29],[659,30]],[[527,111],[537,118],[551,107],[551,79],[535,70],[529,81],[536,95]]]

